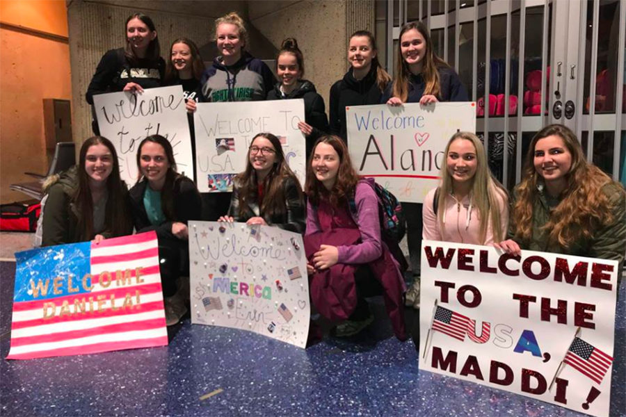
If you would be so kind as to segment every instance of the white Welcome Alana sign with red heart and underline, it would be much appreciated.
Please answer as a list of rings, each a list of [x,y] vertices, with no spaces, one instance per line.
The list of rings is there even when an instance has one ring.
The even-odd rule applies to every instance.
[[[438,185],[444,150],[456,131],[476,131],[470,102],[346,108],[350,157],[401,202],[423,202]]]

